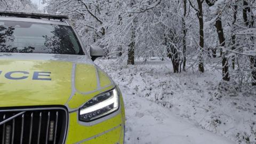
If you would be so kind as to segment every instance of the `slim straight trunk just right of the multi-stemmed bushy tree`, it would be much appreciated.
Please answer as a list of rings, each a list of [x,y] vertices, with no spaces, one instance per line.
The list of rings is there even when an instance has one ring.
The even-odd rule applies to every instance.
[[[187,15],[187,0],[183,0],[184,3],[184,14],[182,18],[182,29],[183,29],[183,71],[186,71],[186,51],[187,51],[187,43],[186,43],[186,34],[187,34],[187,27],[186,27],[186,15]]]

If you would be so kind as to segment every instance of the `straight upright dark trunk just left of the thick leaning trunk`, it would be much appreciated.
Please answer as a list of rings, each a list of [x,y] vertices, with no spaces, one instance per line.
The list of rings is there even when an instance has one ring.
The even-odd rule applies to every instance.
[[[201,0],[197,0],[199,12],[197,12],[197,17],[199,20],[199,46],[200,46],[200,53],[199,53],[199,71],[204,73],[204,63],[203,63],[203,51],[204,51],[204,19],[203,19],[203,5]]]

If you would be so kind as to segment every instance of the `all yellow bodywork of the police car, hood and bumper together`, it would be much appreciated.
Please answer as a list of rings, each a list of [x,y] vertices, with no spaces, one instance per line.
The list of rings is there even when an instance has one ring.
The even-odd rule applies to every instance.
[[[125,111],[122,95],[115,115],[102,117],[99,123],[86,124],[78,120],[79,107],[114,87],[107,74],[92,64],[0,59],[0,108],[66,106],[69,110],[66,143],[123,143]]]

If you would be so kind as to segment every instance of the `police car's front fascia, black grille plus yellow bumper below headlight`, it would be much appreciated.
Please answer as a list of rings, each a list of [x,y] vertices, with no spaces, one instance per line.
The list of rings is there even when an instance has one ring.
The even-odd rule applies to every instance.
[[[78,111],[63,106],[0,108],[3,143],[124,143],[124,105],[112,114],[85,123]],[[54,139],[51,139],[54,138]]]

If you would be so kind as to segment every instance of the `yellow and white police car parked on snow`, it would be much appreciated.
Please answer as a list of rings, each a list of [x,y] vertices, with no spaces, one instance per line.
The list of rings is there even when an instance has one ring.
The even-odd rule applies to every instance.
[[[63,15],[0,12],[0,143],[124,143],[118,86]]]

